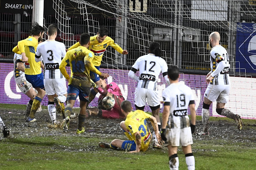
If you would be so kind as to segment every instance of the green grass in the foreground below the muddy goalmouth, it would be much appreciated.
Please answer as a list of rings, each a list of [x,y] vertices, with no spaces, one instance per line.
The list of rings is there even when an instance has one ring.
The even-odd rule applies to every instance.
[[[23,109],[25,105],[1,104],[1,108]],[[11,110],[10,110],[11,111]],[[79,109],[75,109],[78,112]],[[93,121],[93,120],[92,120]],[[197,116],[201,121],[201,116]],[[210,122],[233,122],[223,117],[210,117]],[[244,131],[256,130],[252,126],[255,120],[243,119]],[[248,126],[250,124],[250,126]],[[25,124],[24,124],[25,125]],[[10,126],[15,126],[14,124]],[[31,128],[31,127],[30,127]],[[38,127],[37,130],[40,130]],[[60,130],[61,131],[61,130]],[[168,150],[149,148],[146,152],[128,153],[122,150],[103,149],[98,147],[100,141],[110,142],[114,138],[126,140],[125,135],[105,135],[85,133],[75,135],[69,133],[46,133],[45,136],[20,135],[11,132],[10,138],[0,135],[0,169],[1,170],[155,170],[169,169]],[[212,131],[214,133],[214,131]],[[224,135],[224,134],[223,134]],[[225,134],[229,135],[229,134]],[[196,169],[199,170],[253,170],[256,166],[256,136],[236,133],[236,140],[232,135],[222,138],[193,135],[192,150],[196,160]],[[252,136],[254,135],[254,136]],[[178,150],[180,170],[187,169],[185,156],[181,147]]]

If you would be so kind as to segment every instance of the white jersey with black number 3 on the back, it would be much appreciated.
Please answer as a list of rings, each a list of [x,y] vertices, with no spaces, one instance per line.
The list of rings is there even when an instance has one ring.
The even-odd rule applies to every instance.
[[[63,78],[59,70],[59,65],[65,55],[65,45],[58,41],[46,40],[38,45],[37,52],[35,53],[35,61],[43,61],[45,79]]]

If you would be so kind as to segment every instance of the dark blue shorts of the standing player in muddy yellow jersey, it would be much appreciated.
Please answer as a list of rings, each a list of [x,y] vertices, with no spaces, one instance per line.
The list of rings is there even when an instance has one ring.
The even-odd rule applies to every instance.
[[[68,97],[67,100],[76,100],[77,96],[84,102],[89,102],[90,87],[81,86],[68,86]]]

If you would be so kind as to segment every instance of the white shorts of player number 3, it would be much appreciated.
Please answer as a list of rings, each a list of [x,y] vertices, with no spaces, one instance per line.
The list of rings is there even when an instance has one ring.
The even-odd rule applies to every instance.
[[[65,95],[67,94],[66,79],[44,79],[44,88],[47,95]]]

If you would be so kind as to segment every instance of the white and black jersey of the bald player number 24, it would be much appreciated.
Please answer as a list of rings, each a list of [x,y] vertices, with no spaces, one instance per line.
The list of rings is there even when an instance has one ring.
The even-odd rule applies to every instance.
[[[216,76],[213,78],[211,84],[215,85],[226,85],[230,84],[230,79],[229,79],[229,57],[228,57],[228,52],[227,50],[218,45],[212,48],[210,52],[210,63],[211,63],[211,69],[212,73],[218,66],[220,62],[224,62],[225,67],[222,69],[221,72],[215,73]]]

